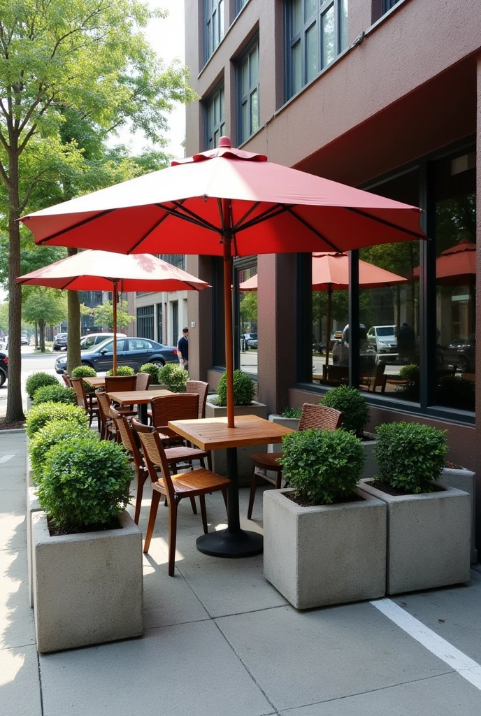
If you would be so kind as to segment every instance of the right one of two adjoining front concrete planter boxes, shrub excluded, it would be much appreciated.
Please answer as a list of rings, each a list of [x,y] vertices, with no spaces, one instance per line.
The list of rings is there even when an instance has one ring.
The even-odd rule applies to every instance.
[[[470,579],[470,495],[447,488],[394,496],[360,487],[387,504],[387,594]]]

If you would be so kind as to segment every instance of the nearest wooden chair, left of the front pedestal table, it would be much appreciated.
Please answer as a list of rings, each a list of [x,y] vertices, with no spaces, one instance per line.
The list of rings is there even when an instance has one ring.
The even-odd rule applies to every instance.
[[[210,470],[205,470],[205,468],[193,470],[191,473],[171,476],[162,440],[160,440],[157,430],[152,431],[151,427],[137,421],[132,421],[132,424],[137,430],[137,435],[142,444],[145,463],[152,481],[152,503],[150,505],[147,533],[145,534],[144,553],[147,554],[149,551],[160,495],[165,495],[169,503],[169,576],[173,577],[175,570],[175,542],[177,539],[177,513],[180,500],[186,497],[195,498],[197,495],[199,496],[200,514],[204,533],[207,534],[205,495],[220,490],[226,502],[230,480],[222,475],[211,473]],[[160,478],[157,476],[156,465],[160,468]]]

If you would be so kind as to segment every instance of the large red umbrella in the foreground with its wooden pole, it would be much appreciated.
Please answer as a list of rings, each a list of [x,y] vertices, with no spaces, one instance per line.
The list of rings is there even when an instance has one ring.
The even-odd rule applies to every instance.
[[[425,238],[421,210],[219,147],[22,218],[37,243],[224,257],[228,425],[234,427],[232,256],[348,251]]]

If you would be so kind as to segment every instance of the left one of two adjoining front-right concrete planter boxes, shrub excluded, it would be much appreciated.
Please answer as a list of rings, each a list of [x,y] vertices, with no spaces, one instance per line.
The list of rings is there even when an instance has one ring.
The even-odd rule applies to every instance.
[[[386,592],[387,509],[381,500],[301,507],[263,495],[264,575],[296,609],[377,599]]]

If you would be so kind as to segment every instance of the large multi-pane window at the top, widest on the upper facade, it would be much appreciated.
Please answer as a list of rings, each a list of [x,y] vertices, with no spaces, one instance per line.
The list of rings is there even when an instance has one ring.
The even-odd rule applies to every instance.
[[[347,47],[348,0],[287,0],[287,96],[336,59]]]

